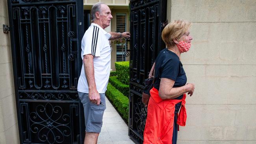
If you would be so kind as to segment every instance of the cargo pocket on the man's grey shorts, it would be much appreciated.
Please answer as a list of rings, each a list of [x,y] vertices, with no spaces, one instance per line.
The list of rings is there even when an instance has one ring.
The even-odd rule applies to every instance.
[[[106,106],[104,105],[91,105],[91,120],[93,123],[101,124],[104,110]]]

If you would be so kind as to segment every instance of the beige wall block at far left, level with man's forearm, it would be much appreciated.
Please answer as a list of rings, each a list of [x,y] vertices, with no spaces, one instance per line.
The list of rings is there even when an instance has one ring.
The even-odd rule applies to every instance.
[[[12,63],[0,64],[0,99],[14,93]]]

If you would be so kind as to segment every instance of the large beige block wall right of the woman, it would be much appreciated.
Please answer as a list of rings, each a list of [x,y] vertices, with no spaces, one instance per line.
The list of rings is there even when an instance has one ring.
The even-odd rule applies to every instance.
[[[169,22],[193,22],[182,63],[196,88],[178,144],[255,144],[256,1],[167,1]]]

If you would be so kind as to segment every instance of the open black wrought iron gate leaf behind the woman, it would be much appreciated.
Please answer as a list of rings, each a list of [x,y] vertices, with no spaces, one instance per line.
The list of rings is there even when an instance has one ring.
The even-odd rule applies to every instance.
[[[129,136],[143,143],[147,109],[141,103],[144,79],[158,52],[165,48],[161,31],[166,24],[167,0],[130,0]]]

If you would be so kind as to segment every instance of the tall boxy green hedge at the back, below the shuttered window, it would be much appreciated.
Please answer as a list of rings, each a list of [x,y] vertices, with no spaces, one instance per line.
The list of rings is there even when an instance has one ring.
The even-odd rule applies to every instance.
[[[117,70],[117,79],[122,83],[129,84],[129,61],[115,62],[115,69]]]

